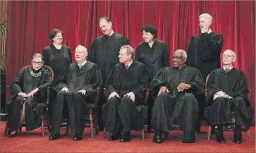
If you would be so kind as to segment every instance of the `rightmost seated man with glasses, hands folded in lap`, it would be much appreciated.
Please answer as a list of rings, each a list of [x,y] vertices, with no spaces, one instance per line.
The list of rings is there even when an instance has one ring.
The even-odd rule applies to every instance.
[[[223,136],[224,123],[234,111],[234,142],[242,143],[241,126],[245,123],[250,128],[252,108],[248,99],[248,86],[243,71],[233,68],[236,54],[231,50],[223,53],[223,68],[212,71],[207,84],[207,108],[205,116],[211,126],[218,127],[217,142],[225,143]]]

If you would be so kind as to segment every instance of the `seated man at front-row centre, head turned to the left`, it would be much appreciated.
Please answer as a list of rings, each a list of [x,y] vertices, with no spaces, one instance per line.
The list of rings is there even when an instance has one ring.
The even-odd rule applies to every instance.
[[[107,82],[110,94],[102,106],[102,118],[106,131],[112,133],[109,140],[127,142],[130,130],[144,128],[147,106],[144,105],[148,81],[145,65],[133,60],[134,50],[124,45],[119,51],[119,62],[111,70]]]

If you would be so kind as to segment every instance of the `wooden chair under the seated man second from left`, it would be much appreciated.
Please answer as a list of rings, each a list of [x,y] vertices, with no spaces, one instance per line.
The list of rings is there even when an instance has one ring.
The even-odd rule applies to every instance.
[[[98,111],[98,104],[99,104],[99,91],[100,87],[97,88],[97,99],[95,104],[90,104],[90,110],[89,110],[89,118],[85,118],[87,122],[90,123],[90,126],[85,125],[85,128],[89,128],[91,130],[91,137],[94,138],[95,135],[99,134],[99,128],[98,128],[98,121],[97,121],[97,111]],[[69,129],[69,121],[66,121],[67,123],[62,123],[63,126],[66,126],[66,133],[68,134]],[[93,131],[95,129],[95,133]]]

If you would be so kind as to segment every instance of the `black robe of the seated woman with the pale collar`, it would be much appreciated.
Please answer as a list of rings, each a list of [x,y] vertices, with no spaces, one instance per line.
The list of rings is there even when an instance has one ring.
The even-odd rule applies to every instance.
[[[39,77],[34,77],[30,75],[30,71],[42,74]],[[40,111],[46,98],[47,87],[51,86],[51,83],[51,75],[44,68],[34,71],[30,66],[20,70],[18,76],[11,83],[11,103],[7,104],[8,128],[18,130],[20,126],[20,109],[23,97],[18,96],[18,93],[25,92],[25,94],[29,94],[37,87],[39,91],[34,94],[34,97],[25,98],[25,126],[27,131],[41,126]]]

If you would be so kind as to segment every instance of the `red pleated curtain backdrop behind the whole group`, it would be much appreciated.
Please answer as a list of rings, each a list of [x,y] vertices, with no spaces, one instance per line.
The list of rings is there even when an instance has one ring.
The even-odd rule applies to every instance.
[[[90,51],[102,35],[97,25],[102,16],[113,20],[114,31],[128,37],[133,48],[142,42],[142,25],[151,23],[172,56],[176,49],[188,49],[191,37],[200,32],[198,16],[209,13],[212,31],[224,35],[223,51],[232,49],[238,56],[235,67],[248,78],[255,106],[255,1],[11,1],[9,6],[8,84],[30,64],[32,54],[51,43],[53,28],[63,30],[63,44],[72,51],[78,44]]]

